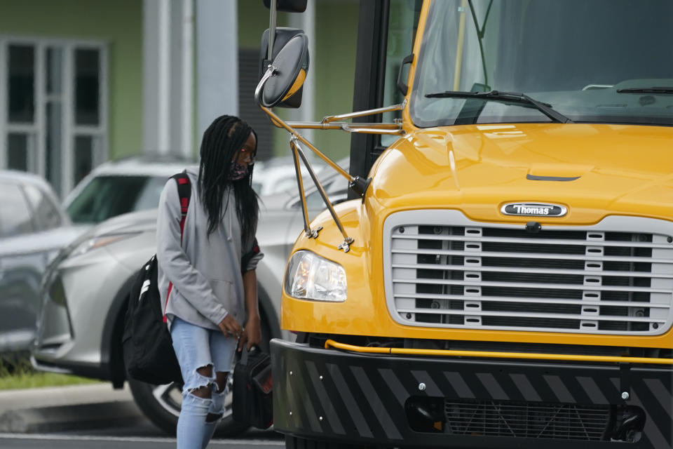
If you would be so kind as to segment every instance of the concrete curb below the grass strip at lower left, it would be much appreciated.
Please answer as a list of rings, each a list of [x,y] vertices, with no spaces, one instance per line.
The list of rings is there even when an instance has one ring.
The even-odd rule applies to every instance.
[[[0,391],[0,433],[123,427],[147,418],[128,390],[109,383]]]

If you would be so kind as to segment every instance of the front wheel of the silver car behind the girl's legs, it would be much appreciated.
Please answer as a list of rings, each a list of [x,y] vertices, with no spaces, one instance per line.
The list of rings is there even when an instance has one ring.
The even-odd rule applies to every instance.
[[[264,317],[262,317],[264,323]],[[268,340],[271,335],[267,326],[261,326],[261,347],[268,351]],[[234,358],[236,363],[237,357]],[[159,429],[167,434],[175,435],[177,427],[177,418],[180,414],[182,405],[182,385],[173,382],[172,384],[153,385],[139,380],[128,380],[128,386],[138,408],[145,416]],[[227,438],[240,434],[248,429],[245,424],[240,424],[231,417],[231,387],[233,386],[233,366],[231,375],[226,380],[226,396],[224,399],[224,417],[217,426],[215,436]]]

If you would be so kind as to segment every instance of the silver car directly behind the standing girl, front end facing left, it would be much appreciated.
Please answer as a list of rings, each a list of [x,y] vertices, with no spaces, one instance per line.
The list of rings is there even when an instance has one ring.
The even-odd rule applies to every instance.
[[[333,203],[346,199],[343,177],[332,175],[323,185]],[[315,189],[307,191],[306,199],[311,216],[324,208]],[[264,342],[283,336],[280,288],[287,257],[303,226],[299,196],[285,192],[262,198],[257,240],[265,256],[257,266],[257,280]],[[109,380],[115,388],[123,387],[126,295],[137,270],[154,254],[155,239],[156,209],[102,222],[61,251],[44,278],[39,335],[32,350],[36,368]],[[182,400],[179,385],[134,380],[129,385],[145,415],[174,433]],[[230,398],[227,404],[218,429],[221,436],[245,430],[231,419]]]

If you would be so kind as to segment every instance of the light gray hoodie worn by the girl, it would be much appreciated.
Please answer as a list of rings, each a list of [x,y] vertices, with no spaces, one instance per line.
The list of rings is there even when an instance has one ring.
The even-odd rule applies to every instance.
[[[191,198],[180,244],[180,201],[177,182],[168,180],[159,199],[156,258],[161,305],[169,326],[173,316],[203,328],[217,329],[227,314],[243,326],[247,319],[240,261],[253,242],[243,248],[233,189],[224,192],[222,223],[208,236],[208,213],[198,192],[198,171],[187,169]],[[257,267],[263,253],[254,255],[246,271]],[[166,294],[172,282],[168,303]]]

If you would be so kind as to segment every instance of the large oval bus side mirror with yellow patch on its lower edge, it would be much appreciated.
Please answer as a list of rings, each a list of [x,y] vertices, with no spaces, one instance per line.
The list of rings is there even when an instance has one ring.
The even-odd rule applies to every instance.
[[[254,98],[263,107],[276,107],[287,101],[304,85],[308,72],[308,38],[292,36],[267,66],[257,84]]]

